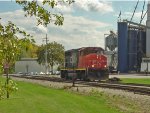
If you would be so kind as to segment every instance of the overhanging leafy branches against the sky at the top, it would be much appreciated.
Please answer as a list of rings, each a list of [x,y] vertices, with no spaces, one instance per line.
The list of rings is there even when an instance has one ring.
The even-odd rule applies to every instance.
[[[53,13],[54,9],[58,4],[71,4],[74,0],[43,0],[40,4],[37,0],[26,1],[16,0],[16,3],[23,7],[25,16],[35,16],[37,19],[37,25],[47,26],[49,23],[55,25],[63,25],[64,17],[61,13]],[[48,5],[51,12],[49,12],[44,6]]]

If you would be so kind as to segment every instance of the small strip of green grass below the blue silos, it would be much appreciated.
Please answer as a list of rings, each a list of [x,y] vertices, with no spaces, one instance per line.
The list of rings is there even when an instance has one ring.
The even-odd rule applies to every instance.
[[[122,83],[149,84],[150,78],[121,78]]]

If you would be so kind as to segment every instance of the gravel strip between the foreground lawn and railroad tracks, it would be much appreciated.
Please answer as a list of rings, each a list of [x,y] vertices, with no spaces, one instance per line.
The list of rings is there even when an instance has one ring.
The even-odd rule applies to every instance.
[[[107,89],[107,88],[95,88],[95,87],[88,87],[85,85],[75,85],[76,87],[72,87],[72,83],[62,83],[62,82],[51,82],[51,81],[43,81],[43,80],[31,80],[31,79],[24,79],[24,78],[16,78],[11,77],[17,81],[25,81],[30,83],[36,83],[43,86],[58,88],[58,89],[68,89],[71,91],[78,91],[80,93],[86,94],[90,92],[99,92],[101,94],[107,95],[108,99],[112,99],[112,102],[118,102],[119,109],[126,111],[126,113],[150,113],[150,96],[146,95],[139,95],[134,94],[132,92],[127,92],[123,90],[114,90],[114,89]],[[120,100],[122,102],[119,102]],[[134,106],[135,111],[131,111],[125,104],[132,104]],[[135,105],[134,105],[135,104]]]

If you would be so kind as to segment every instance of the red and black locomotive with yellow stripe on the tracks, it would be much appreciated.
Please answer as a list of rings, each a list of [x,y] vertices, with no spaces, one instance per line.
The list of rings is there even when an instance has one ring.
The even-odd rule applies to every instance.
[[[101,47],[82,47],[65,52],[61,78],[81,80],[108,79],[107,57]]]

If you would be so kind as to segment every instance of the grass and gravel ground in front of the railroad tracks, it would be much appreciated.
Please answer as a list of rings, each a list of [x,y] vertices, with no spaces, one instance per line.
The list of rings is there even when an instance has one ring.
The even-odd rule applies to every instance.
[[[13,79],[20,81],[17,82],[19,91],[9,100],[0,101],[2,113],[16,113],[18,109],[20,113],[30,113],[29,110],[31,113],[150,113],[150,98],[145,95],[83,85],[71,87],[70,83]]]

